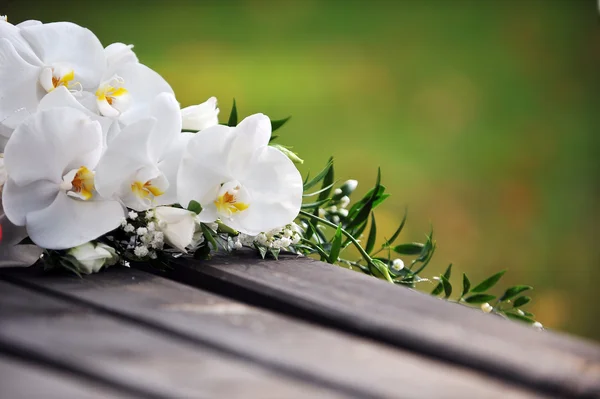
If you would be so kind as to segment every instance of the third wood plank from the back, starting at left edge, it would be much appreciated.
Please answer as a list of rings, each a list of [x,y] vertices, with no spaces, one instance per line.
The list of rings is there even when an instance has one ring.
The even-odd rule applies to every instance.
[[[73,300],[3,281],[0,292],[0,352],[53,364],[137,397],[344,396],[103,315]]]

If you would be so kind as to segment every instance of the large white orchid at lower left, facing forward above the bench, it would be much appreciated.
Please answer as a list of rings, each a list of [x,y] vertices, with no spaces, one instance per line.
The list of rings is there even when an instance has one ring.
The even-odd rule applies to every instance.
[[[122,205],[94,188],[101,153],[100,124],[81,111],[54,108],[27,118],[4,153],[8,219],[47,249],[72,248],[117,228]]]

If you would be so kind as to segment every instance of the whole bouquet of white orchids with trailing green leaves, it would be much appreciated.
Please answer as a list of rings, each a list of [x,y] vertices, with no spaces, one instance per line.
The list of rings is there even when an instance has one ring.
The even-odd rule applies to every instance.
[[[302,160],[274,143],[289,118],[255,114],[238,123],[234,101],[220,124],[214,97],[181,109],[132,47],[104,47],[69,22],[0,19],[3,264],[41,255],[46,267],[89,274],[249,247],[263,258],[317,256],[398,285],[433,283],[432,294],[451,297],[451,265],[420,276],[436,248],[433,233],[425,243],[395,243],[406,215],[376,248],[373,210],[389,196],[379,173],[351,205],[357,182],[338,184],[332,161],[303,179],[295,166]],[[351,246],[357,255],[348,259]],[[531,287],[488,293],[503,273],[473,287],[463,274],[456,301],[534,323],[521,309]]]

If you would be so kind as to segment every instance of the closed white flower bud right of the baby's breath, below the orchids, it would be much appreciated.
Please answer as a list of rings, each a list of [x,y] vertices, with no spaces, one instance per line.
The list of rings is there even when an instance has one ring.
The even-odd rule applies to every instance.
[[[196,214],[186,209],[159,206],[154,210],[158,228],[165,235],[165,241],[181,252],[192,243],[196,229]]]

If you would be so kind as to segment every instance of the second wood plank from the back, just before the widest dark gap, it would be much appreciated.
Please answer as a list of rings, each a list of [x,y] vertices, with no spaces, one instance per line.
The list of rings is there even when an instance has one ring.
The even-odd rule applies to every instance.
[[[531,398],[532,392],[472,370],[244,305],[139,270],[113,268],[84,279],[2,271],[50,295],[104,309],[173,340],[241,358],[353,397]],[[176,356],[176,355],[173,355]],[[443,395],[442,395],[443,394]],[[310,396],[307,394],[307,396]]]

